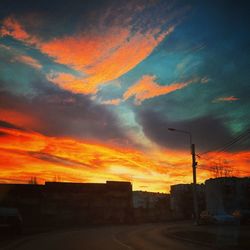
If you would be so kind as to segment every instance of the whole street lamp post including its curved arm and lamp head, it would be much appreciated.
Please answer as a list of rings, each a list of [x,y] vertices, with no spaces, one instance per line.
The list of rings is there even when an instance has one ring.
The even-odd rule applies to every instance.
[[[192,170],[193,170],[193,204],[194,204],[194,223],[198,225],[199,223],[199,210],[198,210],[198,200],[197,200],[197,186],[196,186],[196,158],[195,158],[195,144],[192,142],[192,134],[189,131],[179,130],[175,128],[168,128],[169,131],[184,133],[189,136],[190,140],[190,150],[192,155]]]

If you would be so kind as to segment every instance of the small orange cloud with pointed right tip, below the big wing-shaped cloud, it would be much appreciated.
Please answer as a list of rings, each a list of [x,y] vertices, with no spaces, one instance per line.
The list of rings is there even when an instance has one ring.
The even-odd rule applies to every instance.
[[[144,100],[182,89],[193,82],[190,80],[186,82],[173,83],[167,86],[161,86],[155,81],[155,79],[155,76],[144,75],[138,82],[136,82],[124,93],[124,100],[134,96],[135,103],[141,104],[141,102]]]

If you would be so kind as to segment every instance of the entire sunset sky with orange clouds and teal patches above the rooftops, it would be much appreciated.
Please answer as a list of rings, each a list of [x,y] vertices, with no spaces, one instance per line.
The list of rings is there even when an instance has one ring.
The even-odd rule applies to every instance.
[[[0,182],[250,176],[246,2],[1,0]]]

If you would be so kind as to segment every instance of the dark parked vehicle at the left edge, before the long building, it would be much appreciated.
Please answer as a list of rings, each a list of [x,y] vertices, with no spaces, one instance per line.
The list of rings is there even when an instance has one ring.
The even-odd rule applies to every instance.
[[[5,233],[21,234],[23,220],[16,208],[0,207],[0,230]]]

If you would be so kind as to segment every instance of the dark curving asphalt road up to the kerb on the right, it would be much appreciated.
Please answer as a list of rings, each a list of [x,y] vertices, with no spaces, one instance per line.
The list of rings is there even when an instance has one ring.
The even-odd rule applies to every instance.
[[[195,250],[209,249],[190,242],[171,239],[171,224],[109,226],[43,233],[12,242],[8,250]],[[176,224],[174,225],[176,226]]]

